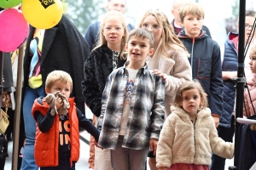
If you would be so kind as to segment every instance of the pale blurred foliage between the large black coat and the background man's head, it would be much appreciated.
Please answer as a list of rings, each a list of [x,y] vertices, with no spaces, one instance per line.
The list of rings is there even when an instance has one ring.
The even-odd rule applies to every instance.
[[[84,35],[87,27],[105,13],[103,0],[65,0],[66,14]]]

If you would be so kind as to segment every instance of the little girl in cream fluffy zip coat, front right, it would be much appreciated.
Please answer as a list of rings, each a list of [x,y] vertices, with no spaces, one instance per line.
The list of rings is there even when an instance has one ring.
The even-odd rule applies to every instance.
[[[177,89],[172,114],[166,118],[157,145],[159,170],[209,170],[212,152],[228,159],[234,156],[234,144],[218,137],[207,105],[197,80],[184,82]]]

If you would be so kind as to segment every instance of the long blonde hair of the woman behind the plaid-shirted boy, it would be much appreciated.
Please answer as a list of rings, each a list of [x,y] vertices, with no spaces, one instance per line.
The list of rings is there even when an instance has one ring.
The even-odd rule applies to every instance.
[[[187,52],[186,48],[183,45],[183,42],[181,42],[177,38],[177,35],[175,34],[174,29],[173,29],[171,23],[169,22],[166,14],[164,14],[160,10],[158,10],[158,9],[156,9],[156,10],[154,10],[154,9],[148,10],[146,12],[146,14],[144,14],[143,19],[141,20],[141,22],[139,24],[139,27],[143,27],[143,20],[145,20],[145,18],[148,15],[154,16],[154,18],[157,20],[157,22],[160,25],[160,27],[163,28],[163,31],[162,31],[162,44],[160,44],[160,53],[165,52],[166,57],[170,57],[170,56],[168,56],[168,54],[166,52],[166,46],[168,48],[172,48],[173,50],[177,50],[177,48],[174,48],[172,46],[172,43],[176,44],[180,48],[183,48],[185,50],[185,52]],[[177,52],[178,52],[178,50],[177,50]],[[189,56],[189,54],[188,54],[188,56]]]

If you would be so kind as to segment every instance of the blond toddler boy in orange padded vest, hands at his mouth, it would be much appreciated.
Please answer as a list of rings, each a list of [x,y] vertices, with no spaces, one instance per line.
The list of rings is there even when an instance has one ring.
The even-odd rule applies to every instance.
[[[79,127],[95,139],[99,131],[69,98],[73,81],[65,71],[52,71],[45,82],[47,96],[35,99],[32,116],[37,122],[35,161],[41,170],[75,169],[79,161]]]

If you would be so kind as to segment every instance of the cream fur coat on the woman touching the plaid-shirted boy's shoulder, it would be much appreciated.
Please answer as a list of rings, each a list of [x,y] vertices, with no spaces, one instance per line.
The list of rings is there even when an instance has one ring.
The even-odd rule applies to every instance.
[[[183,48],[180,48],[176,44],[172,44],[172,47],[177,48],[177,50],[166,48],[168,57],[166,57],[166,54],[160,54],[160,47],[158,47],[154,52],[154,56],[159,56],[157,58],[159,59],[159,66],[158,68],[150,68],[158,69],[159,71],[167,75],[165,83],[166,116],[171,114],[170,108],[173,104],[177,88],[183,82],[190,81],[192,79],[192,71],[187,54],[185,53]],[[152,62],[154,62],[154,59],[152,60]]]

